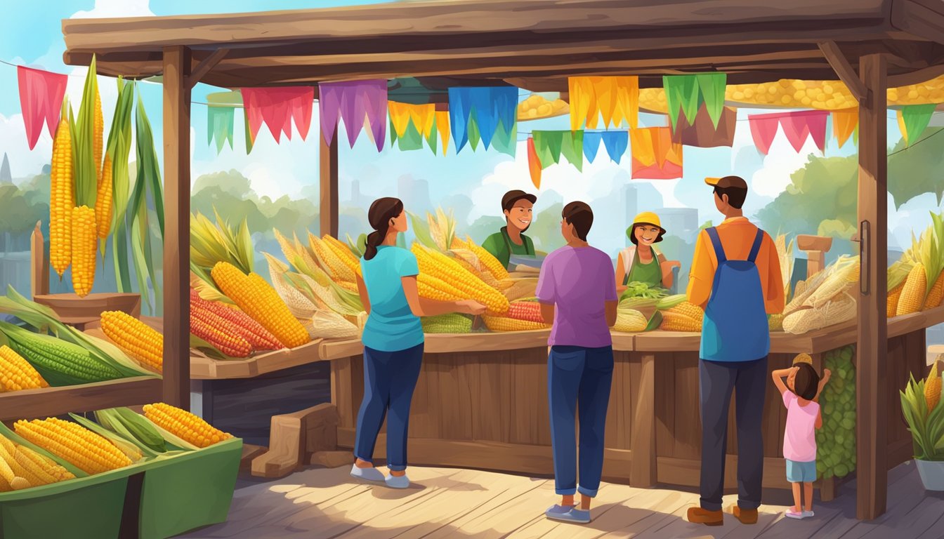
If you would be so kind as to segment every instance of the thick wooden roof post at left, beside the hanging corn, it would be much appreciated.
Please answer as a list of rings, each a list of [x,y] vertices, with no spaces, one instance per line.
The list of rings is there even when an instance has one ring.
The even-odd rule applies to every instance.
[[[164,49],[164,401],[190,409],[190,49]]]

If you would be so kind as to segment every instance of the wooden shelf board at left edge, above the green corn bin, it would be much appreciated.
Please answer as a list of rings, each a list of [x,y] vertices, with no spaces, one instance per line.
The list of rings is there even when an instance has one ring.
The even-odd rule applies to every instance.
[[[0,421],[160,402],[161,384],[159,378],[136,377],[0,393]]]

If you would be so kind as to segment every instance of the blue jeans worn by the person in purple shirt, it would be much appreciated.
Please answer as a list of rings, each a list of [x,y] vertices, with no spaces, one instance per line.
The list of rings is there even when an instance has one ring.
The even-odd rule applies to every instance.
[[[551,346],[548,356],[550,441],[554,487],[561,496],[595,497],[603,473],[603,430],[613,385],[613,346]],[[580,410],[580,486],[576,416]]]

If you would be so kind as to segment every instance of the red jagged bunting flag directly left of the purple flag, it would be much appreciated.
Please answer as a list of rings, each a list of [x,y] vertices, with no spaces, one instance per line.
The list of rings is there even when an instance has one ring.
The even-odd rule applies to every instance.
[[[292,120],[302,140],[308,136],[312,125],[314,88],[310,86],[288,86],[277,88],[243,88],[243,106],[249,118],[249,128],[255,140],[264,122],[278,143],[281,134],[292,140]]]

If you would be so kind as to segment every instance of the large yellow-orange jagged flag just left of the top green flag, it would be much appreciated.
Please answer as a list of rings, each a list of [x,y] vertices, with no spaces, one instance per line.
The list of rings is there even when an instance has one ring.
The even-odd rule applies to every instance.
[[[604,128],[638,125],[638,76],[571,76],[567,87],[571,131],[596,129],[600,116]]]

